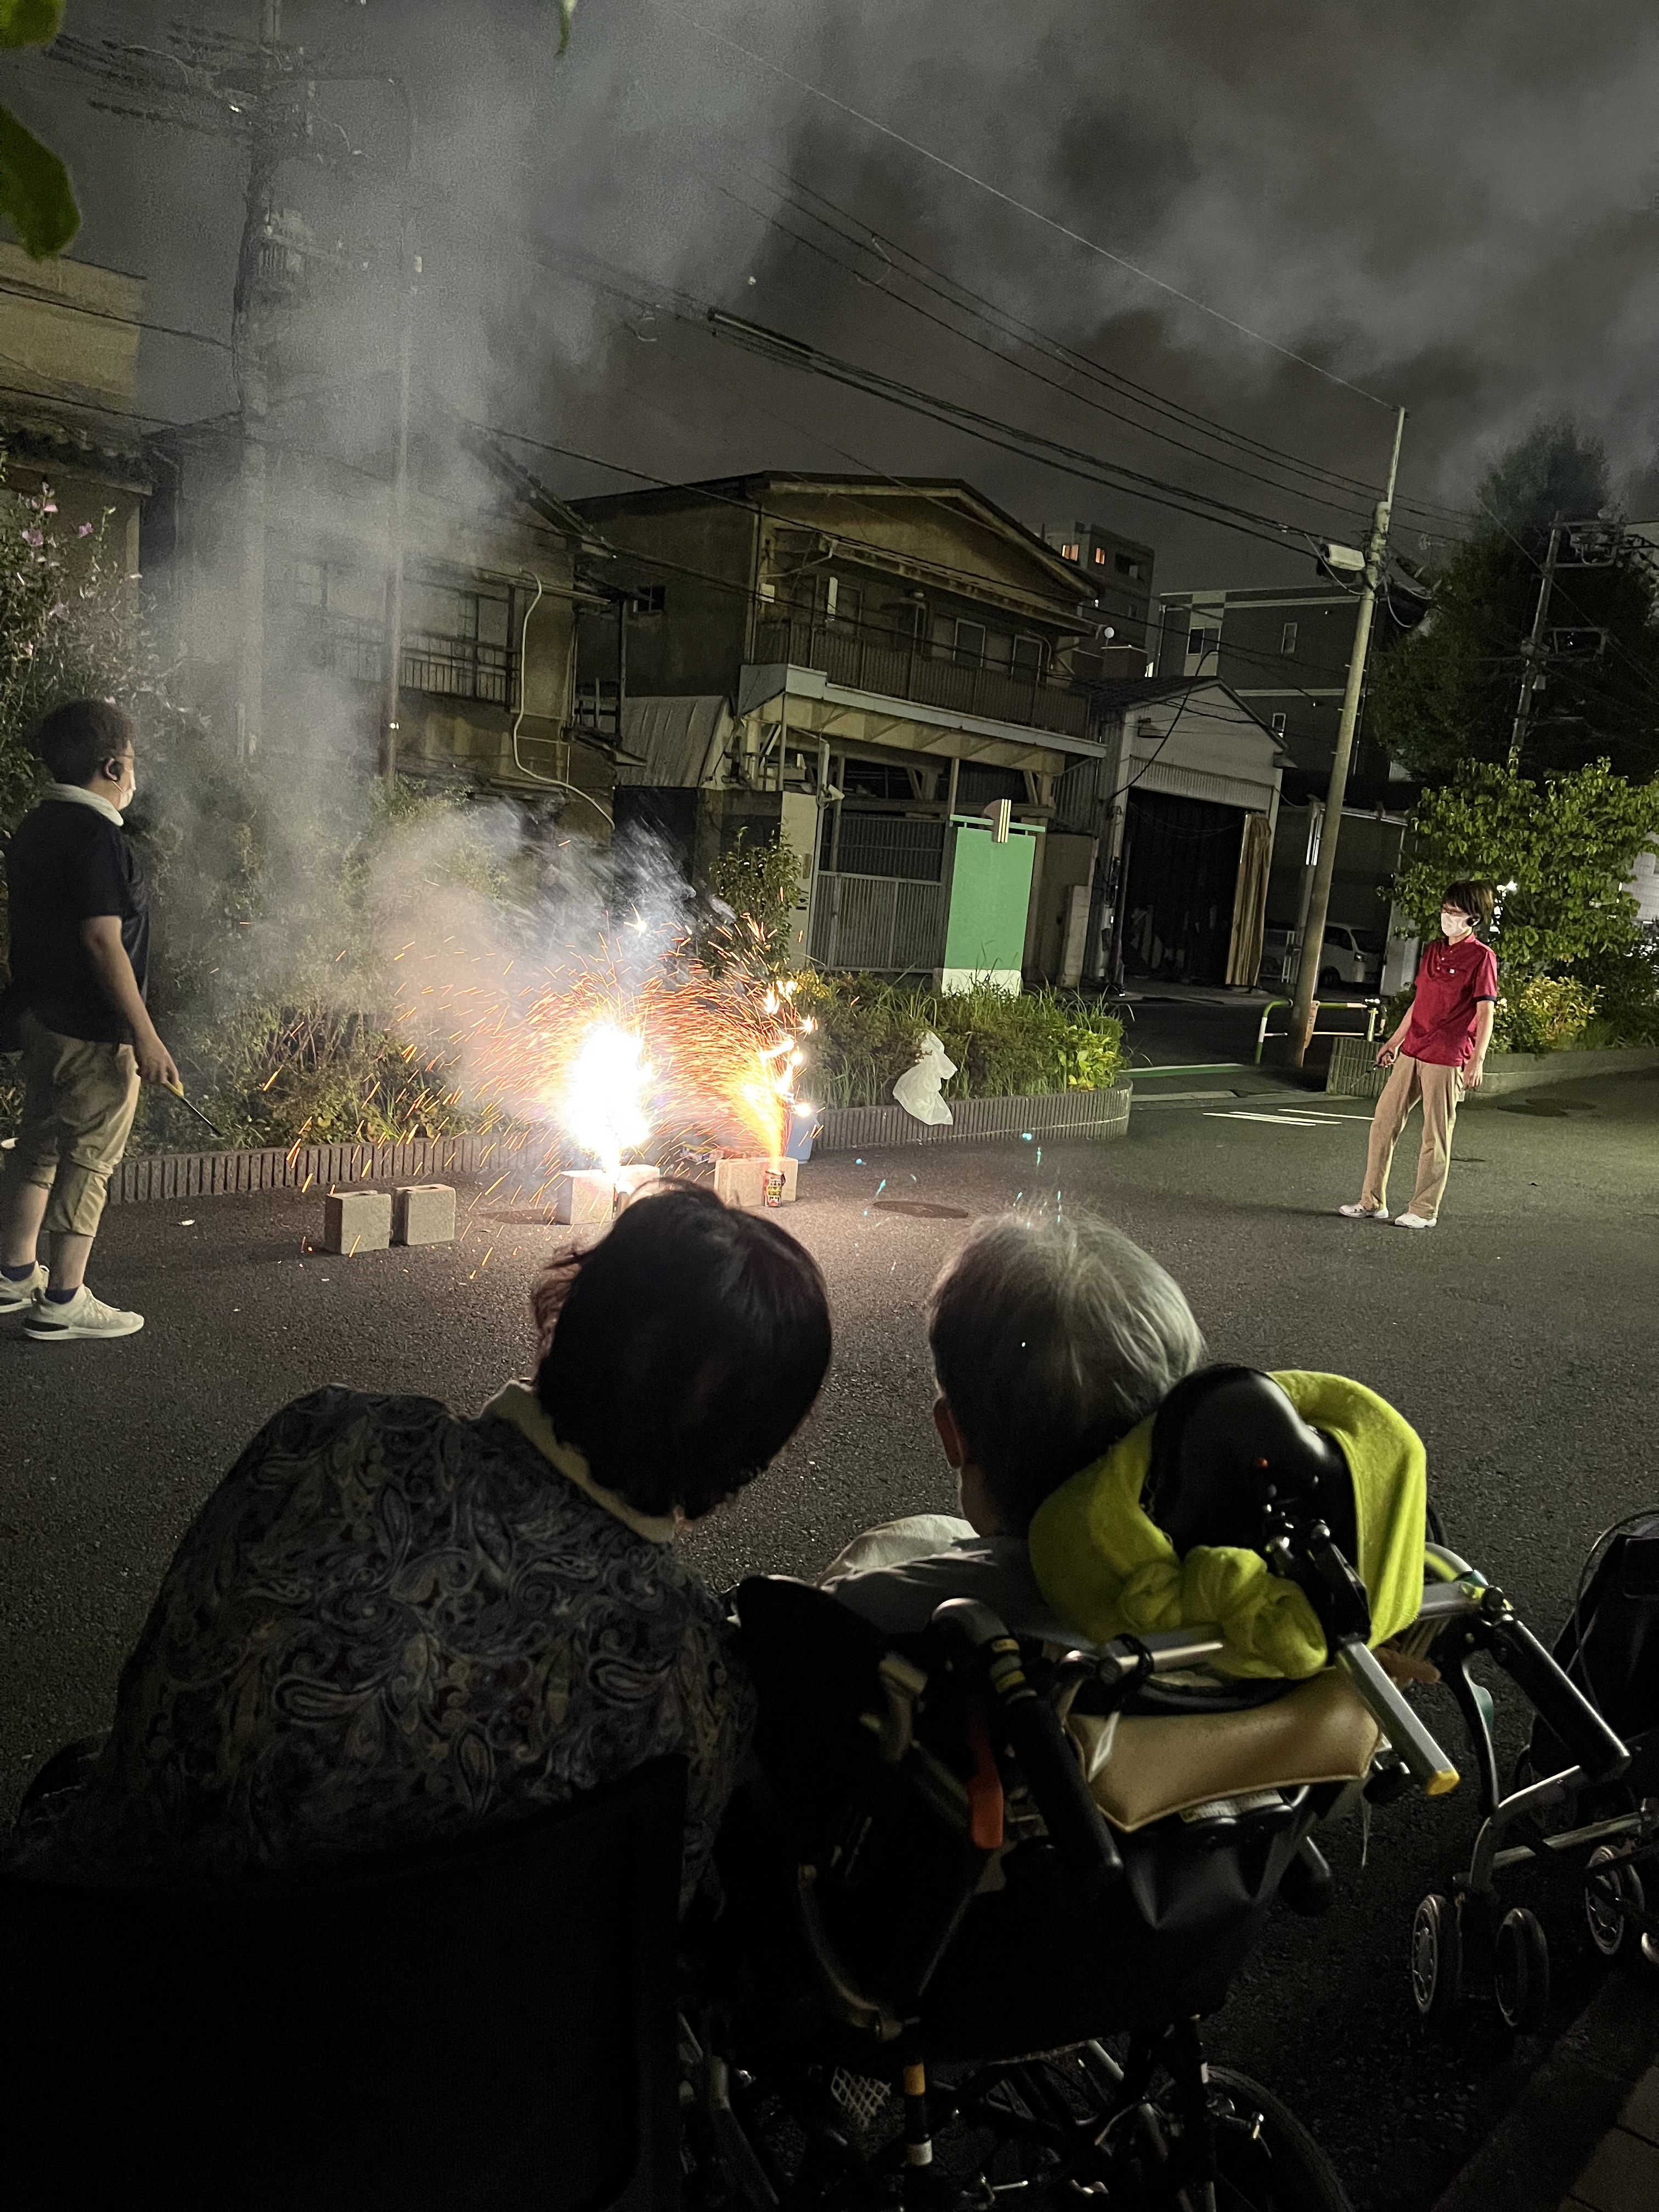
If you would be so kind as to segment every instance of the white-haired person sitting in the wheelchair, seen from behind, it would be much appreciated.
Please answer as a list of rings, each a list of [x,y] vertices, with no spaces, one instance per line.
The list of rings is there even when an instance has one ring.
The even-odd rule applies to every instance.
[[[1177,1281],[1086,1214],[993,1214],[973,1225],[927,1307],[933,1427],[962,1520],[914,1513],[856,1537],[823,1586],[887,1635],[975,1597],[1018,1635],[1073,1641],[1046,1604],[1026,1531],[1208,1352]]]

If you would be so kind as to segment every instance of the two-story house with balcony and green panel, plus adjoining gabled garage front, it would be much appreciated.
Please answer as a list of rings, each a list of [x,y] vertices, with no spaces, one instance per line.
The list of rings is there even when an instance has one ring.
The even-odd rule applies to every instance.
[[[650,827],[699,883],[734,838],[781,836],[799,960],[945,989],[1099,978],[1124,776],[1137,807],[1250,792],[1232,920],[1243,812],[1276,803],[1272,737],[1223,686],[1183,684],[1137,765],[1161,699],[1079,668],[1099,611],[1077,562],[971,484],[763,473],[575,507],[630,595],[624,657],[595,635],[577,666],[582,697],[626,695],[617,827]],[[1181,781],[1217,774],[1225,792]]]

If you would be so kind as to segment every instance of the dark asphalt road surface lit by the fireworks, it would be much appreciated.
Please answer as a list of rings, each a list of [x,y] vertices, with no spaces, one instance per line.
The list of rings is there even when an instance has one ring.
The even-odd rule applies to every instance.
[[[1252,1077],[1192,1088],[1234,1082]],[[1431,1234],[1336,1219],[1358,1192],[1365,1108],[1283,1086],[1137,1104],[1108,1146],[816,1161],[787,1223],[830,1276],[834,1369],[807,1429],[690,1548],[721,1584],[810,1575],[872,1520],[947,1509],[927,1285],[973,1214],[1091,1206],[1177,1274],[1217,1358],[1340,1369],[1391,1398],[1429,1444],[1451,1542],[1553,1635],[1597,1528],[1659,1489],[1657,1137],[1652,1075],[1467,1108]],[[93,1281],[148,1314],[144,1334],[0,1340],[4,1807],[46,1752],[104,1721],[173,1544],[261,1418],[325,1380],[471,1409],[526,1369],[526,1290],[566,1232],[502,1214],[498,1194],[473,1203],[453,1248],[338,1261],[303,1250],[316,1199],[119,1208]],[[1451,1728],[1449,1701],[1442,1717]],[[1451,1876],[1473,1825],[1464,1790],[1378,1814],[1369,1847],[1358,1825],[1340,1834],[1334,1913],[1276,1916],[1212,2031],[1217,2055],[1316,2128],[1363,2212],[1431,2203],[1537,2059],[1482,2033],[1436,2048],[1411,2017],[1411,1907]],[[1513,1900],[1551,1927],[1566,2020],[1588,1989],[1577,1898],[1533,1882]]]

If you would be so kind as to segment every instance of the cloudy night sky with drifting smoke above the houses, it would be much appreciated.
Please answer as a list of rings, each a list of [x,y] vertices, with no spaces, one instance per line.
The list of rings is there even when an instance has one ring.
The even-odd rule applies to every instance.
[[[259,9],[188,13],[248,33]],[[150,42],[135,73],[164,93],[7,69],[71,155],[75,254],[219,341],[146,338],[166,420],[237,403],[246,173],[179,15],[69,9],[88,46]],[[1161,588],[1314,575],[1305,535],[1279,549],[750,361],[701,325],[721,305],[1298,533],[1354,540],[1369,498],[1276,456],[1376,487],[1396,403],[1407,555],[1542,414],[1659,507],[1659,20],[1635,0],[582,0],[562,62],[542,0],[290,0],[283,33],[407,77],[422,385],[498,429],[641,478],[967,476],[1026,522],[1152,542]],[[312,144],[283,170],[325,250],[305,374],[361,378],[392,354],[392,95],[325,86]],[[522,453],[566,493],[637,480]]]

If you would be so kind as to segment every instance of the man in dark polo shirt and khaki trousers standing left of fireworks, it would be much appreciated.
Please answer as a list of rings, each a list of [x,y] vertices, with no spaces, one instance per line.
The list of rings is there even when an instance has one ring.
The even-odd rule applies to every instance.
[[[51,770],[7,852],[11,989],[24,1104],[0,1181],[0,1314],[55,1345],[131,1336],[144,1314],[104,1305],[86,1259],[139,1082],[177,1084],[144,1006],[150,902],[122,834],[133,803],[133,723],[102,699],[55,708],[35,732]],[[51,1237],[51,1270],[38,1263]]]

